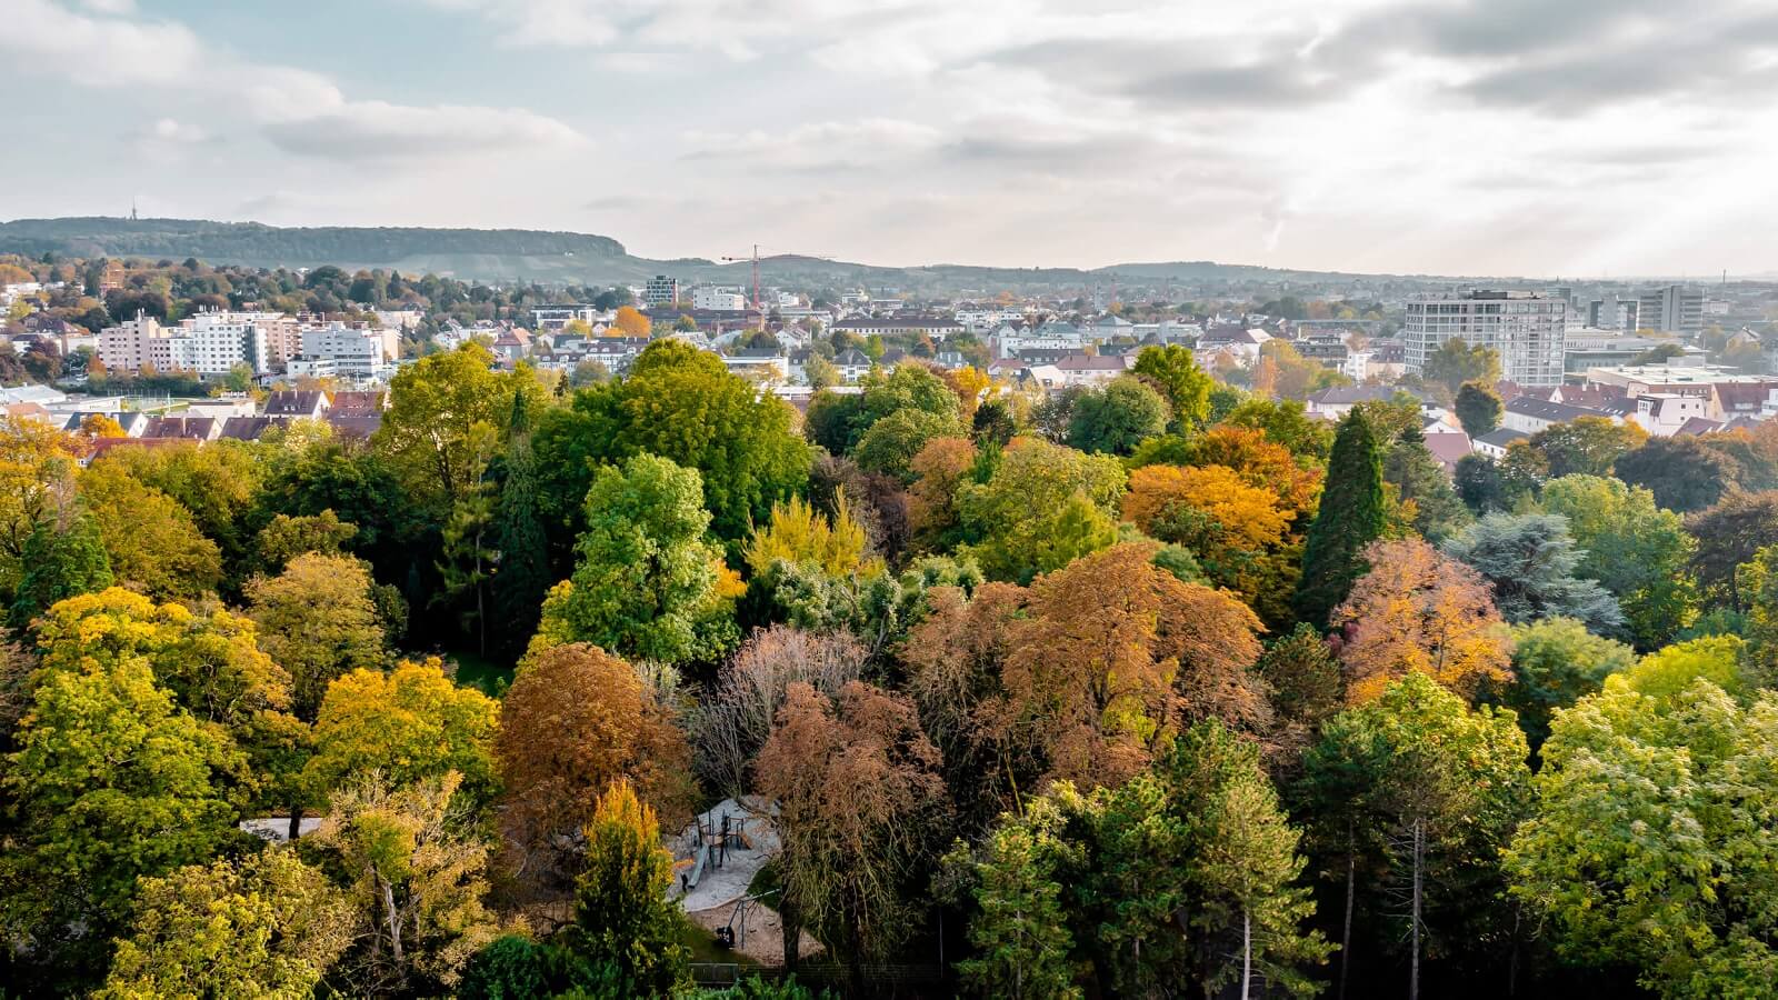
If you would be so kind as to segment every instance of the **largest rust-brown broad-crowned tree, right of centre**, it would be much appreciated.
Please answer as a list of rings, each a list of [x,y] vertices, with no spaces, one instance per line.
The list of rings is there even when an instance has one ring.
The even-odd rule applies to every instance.
[[[1033,738],[1047,778],[1120,785],[1181,722],[1271,722],[1259,619],[1232,596],[1184,584],[1150,560],[1152,543],[1118,544],[1031,585],[990,710],[1003,740]]]

